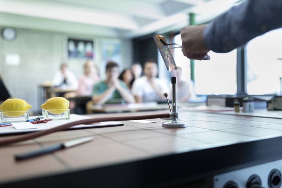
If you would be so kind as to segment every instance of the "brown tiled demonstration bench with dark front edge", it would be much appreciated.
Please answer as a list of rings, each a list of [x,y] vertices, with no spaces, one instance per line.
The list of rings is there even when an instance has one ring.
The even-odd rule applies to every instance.
[[[92,117],[157,112],[98,114]],[[62,131],[0,148],[0,186],[213,186],[214,175],[282,159],[282,119],[179,112],[187,128],[124,121]],[[1,129],[0,129],[1,131]],[[16,162],[14,154],[66,140],[92,142]],[[14,136],[0,137],[7,139]],[[280,169],[281,170],[281,169]],[[263,185],[266,186],[266,185]]]

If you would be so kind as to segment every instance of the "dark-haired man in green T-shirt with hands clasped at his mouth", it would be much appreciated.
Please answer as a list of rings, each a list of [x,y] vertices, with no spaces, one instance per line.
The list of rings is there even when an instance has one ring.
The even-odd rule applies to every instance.
[[[94,104],[122,103],[123,101],[133,103],[134,97],[128,91],[125,83],[118,79],[117,63],[112,61],[107,63],[106,75],[105,80],[97,82],[93,87]]]

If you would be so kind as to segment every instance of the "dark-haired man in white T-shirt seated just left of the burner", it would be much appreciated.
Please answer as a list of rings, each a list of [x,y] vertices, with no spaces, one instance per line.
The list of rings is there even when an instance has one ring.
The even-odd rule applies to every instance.
[[[144,75],[136,79],[132,86],[132,94],[136,102],[160,102],[164,101],[164,93],[169,92],[166,81],[157,78],[158,66],[154,60],[144,63]]]

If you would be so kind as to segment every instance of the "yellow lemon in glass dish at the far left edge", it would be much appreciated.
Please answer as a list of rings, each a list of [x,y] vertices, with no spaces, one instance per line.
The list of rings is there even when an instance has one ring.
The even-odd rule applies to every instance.
[[[21,116],[24,114],[24,112],[17,111],[27,111],[29,108],[31,108],[31,106],[23,99],[7,99],[0,106],[1,112],[3,112],[3,114],[8,117]]]

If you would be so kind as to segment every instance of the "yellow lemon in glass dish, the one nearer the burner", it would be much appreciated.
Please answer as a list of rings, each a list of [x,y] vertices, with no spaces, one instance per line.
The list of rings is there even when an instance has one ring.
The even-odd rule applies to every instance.
[[[60,114],[65,112],[70,106],[70,102],[64,97],[52,97],[43,103],[40,107],[44,110],[54,110],[50,113]],[[62,109],[62,110],[60,110]]]

